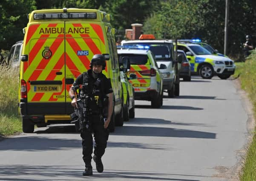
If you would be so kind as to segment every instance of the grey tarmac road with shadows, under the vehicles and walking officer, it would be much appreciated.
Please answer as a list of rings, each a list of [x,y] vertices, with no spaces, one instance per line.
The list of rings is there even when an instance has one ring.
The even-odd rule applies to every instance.
[[[194,76],[161,109],[135,101],[135,119],[109,136],[104,173],[82,176],[81,138],[72,125],[37,128],[0,142],[0,181],[235,180],[248,115],[231,80]]]

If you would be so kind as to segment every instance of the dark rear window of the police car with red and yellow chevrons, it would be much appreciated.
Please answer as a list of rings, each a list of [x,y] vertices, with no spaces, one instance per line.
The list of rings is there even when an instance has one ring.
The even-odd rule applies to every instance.
[[[122,55],[118,55],[119,64],[122,64],[123,57],[129,57],[131,65],[145,65],[148,62],[147,55],[122,54]]]

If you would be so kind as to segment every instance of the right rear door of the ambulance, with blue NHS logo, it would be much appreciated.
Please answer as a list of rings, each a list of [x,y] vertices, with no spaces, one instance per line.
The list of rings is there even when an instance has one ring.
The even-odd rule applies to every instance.
[[[92,22],[78,20],[65,22],[66,95],[75,78],[90,69],[92,56],[102,54],[102,50],[105,49],[102,31],[100,25]],[[67,101],[70,102],[70,99]],[[67,112],[71,113],[73,110],[70,104],[67,104]]]

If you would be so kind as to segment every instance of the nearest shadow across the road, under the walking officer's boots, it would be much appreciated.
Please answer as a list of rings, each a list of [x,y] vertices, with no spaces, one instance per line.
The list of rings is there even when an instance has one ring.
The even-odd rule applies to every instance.
[[[146,172],[146,171],[133,171],[133,170],[104,170],[103,173],[97,173],[93,169],[93,175],[89,177],[82,176],[83,169],[75,169],[63,165],[3,165],[0,164],[0,181],[84,181],[85,179],[146,179],[146,180],[163,180],[163,181],[199,181],[194,179],[182,179],[180,177],[200,177],[208,178],[206,175],[187,175],[187,174],[172,174],[172,173],[159,173],[159,172]],[[14,176],[15,175],[15,176]],[[14,178],[16,177],[16,178]]]

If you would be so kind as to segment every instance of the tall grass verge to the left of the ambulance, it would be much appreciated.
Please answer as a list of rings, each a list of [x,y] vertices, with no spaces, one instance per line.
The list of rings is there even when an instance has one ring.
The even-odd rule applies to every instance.
[[[22,132],[18,115],[19,70],[0,66],[0,135]]]

